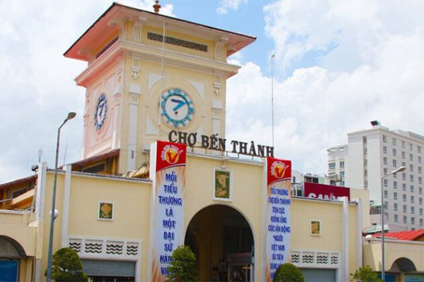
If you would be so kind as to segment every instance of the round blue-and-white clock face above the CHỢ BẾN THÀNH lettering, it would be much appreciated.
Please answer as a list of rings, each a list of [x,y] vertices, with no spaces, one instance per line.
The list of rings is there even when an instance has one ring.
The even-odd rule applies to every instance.
[[[160,108],[165,121],[176,128],[186,126],[192,121],[193,101],[189,94],[178,88],[167,90],[162,94]]]

